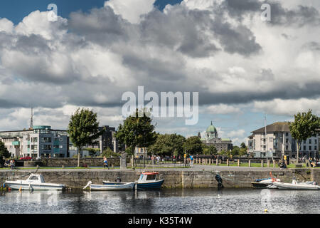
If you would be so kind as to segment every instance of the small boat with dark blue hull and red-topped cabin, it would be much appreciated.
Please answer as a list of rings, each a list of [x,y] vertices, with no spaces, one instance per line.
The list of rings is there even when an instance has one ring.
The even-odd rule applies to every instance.
[[[164,180],[156,180],[157,175],[159,175],[159,172],[142,172],[136,182],[137,190],[161,188]]]

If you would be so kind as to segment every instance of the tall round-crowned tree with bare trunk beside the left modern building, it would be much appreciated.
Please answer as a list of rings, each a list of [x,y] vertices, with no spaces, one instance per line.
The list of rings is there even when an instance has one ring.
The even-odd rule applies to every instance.
[[[68,134],[73,145],[78,148],[78,167],[80,167],[80,154],[82,147],[87,144],[92,144],[102,133],[99,131],[99,122],[97,122],[97,113],[85,108],[78,108],[73,115],[71,115],[68,125]]]

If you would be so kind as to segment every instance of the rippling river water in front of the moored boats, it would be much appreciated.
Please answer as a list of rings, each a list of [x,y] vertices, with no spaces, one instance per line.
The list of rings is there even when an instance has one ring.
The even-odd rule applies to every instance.
[[[188,189],[5,192],[1,214],[320,213],[319,191]]]

